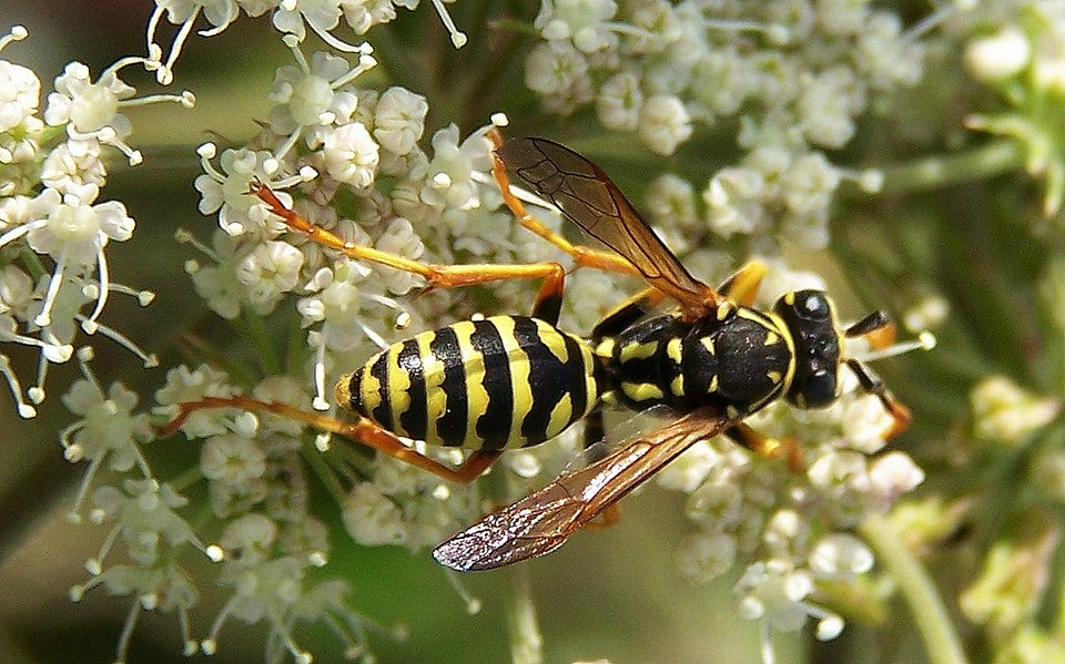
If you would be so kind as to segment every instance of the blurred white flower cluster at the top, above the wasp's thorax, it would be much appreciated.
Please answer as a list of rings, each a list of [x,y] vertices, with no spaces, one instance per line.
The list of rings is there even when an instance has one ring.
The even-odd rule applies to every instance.
[[[878,182],[824,151],[845,147],[876,95],[923,71],[921,41],[871,4],[547,1],[526,84],[549,111],[594,105],[604,127],[663,155],[699,127],[738,125],[746,154],[702,188],[702,223],[755,251],[770,235],[823,247],[840,182]]]

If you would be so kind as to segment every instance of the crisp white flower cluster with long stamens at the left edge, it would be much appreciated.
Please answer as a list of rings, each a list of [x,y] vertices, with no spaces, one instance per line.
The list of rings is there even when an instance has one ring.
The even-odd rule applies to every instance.
[[[27,37],[16,27],[0,39],[0,50]],[[111,280],[105,249],[126,242],[134,222],[125,205],[101,201],[106,183],[106,149],[116,149],[131,165],[140,152],[126,139],[132,132],[122,110],[172,101],[193,104],[192,94],[135,96],[122,70],[144,64],[119,60],[93,79],[89,68],[71,62],[54,81],[41,112],[41,83],[31,70],[0,60],[0,341],[6,348],[29,347],[38,354],[34,382],[24,389],[0,353],[19,415],[33,417],[45,397],[48,368],[71,359],[83,337],[101,335],[129,348],[144,366],[154,356],[119,330],[101,323],[112,293],[132,295],[148,305],[153,295]]]

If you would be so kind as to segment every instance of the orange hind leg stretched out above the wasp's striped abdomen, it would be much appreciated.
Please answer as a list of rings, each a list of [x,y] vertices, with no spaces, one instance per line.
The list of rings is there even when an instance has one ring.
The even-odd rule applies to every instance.
[[[537,296],[539,302],[551,297],[554,294],[560,294],[566,279],[566,270],[558,263],[532,263],[529,265],[433,265],[418,263],[398,254],[344,242],[334,233],[312,224],[300,216],[297,212],[286,207],[274,192],[262,183],[252,183],[250,193],[263,201],[270,207],[270,212],[282,217],[290,228],[305,233],[312,242],[341,252],[356,261],[369,261],[371,263],[419,275],[428,283],[428,288],[456,288],[506,279],[542,278],[544,286]]]

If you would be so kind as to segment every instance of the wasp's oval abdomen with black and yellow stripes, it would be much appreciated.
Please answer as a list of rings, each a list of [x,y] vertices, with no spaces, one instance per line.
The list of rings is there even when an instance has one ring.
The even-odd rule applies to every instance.
[[[369,358],[337,402],[428,445],[501,449],[561,433],[599,401],[601,360],[579,337],[526,316],[463,320]]]

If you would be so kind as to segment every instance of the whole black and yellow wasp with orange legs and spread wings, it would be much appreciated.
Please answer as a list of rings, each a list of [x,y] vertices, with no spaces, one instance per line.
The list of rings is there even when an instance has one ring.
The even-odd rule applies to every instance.
[[[530,265],[427,265],[351,245],[287,208],[274,193],[252,193],[292,228],[356,258],[425,277],[429,287],[511,278],[541,278],[529,316],[463,320],[422,333],[369,358],[336,385],[336,402],[353,421],[246,397],[205,397],[181,405],[164,431],[201,408],[233,406],[287,416],[342,435],[445,479],[469,482],[506,449],[539,445],[586,420],[586,442],[602,437],[602,405],[631,410],[665,407],[676,419],[589,466],[561,474],[523,500],[490,513],[434,550],[456,570],[485,570],[548,553],[576,530],[609,514],[617,501],[699,440],[724,433],[767,456],[780,452],[743,420],[783,397],[821,408],[840,395],[846,366],[891,415],[885,437],[904,429],[910,412],[844,339],[890,344],[893,326],[873,311],[841,328],[821,290],[795,290],[770,310],[753,308],[765,267],[752,262],[714,289],[696,279],[655,235],[610,178],[576,152],[545,139],[503,142],[496,130],[493,173],[519,223],[595,267],[642,277],[648,288],[610,311],[587,337],[556,327],[565,270]],[[510,190],[507,167],[609,251],[574,245],[536,221]],[[652,316],[666,299],[677,307]],[[884,340],[882,340],[884,339]],[[921,341],[893,346],[891,354]],[[403,438],[462,447],[459,467],[420,454]]]

